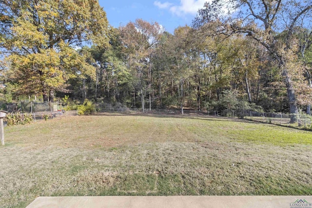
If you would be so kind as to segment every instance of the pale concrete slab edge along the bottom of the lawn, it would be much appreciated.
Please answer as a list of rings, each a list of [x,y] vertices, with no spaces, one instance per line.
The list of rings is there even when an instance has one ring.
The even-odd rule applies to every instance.
[[[312,208],[312,196],[59,196],[38,197],[30,205],[27,206],[27,208],[147,207]]]

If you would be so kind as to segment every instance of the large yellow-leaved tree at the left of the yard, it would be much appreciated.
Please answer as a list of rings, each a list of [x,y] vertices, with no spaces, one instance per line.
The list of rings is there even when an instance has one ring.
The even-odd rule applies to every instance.
[[[95,0],[1,1],[0,47],[9,56],[10,82],[20,95],[65,91],[72,77],[95,67],[75,48],[83,41],[108,45],[108,21]]]

